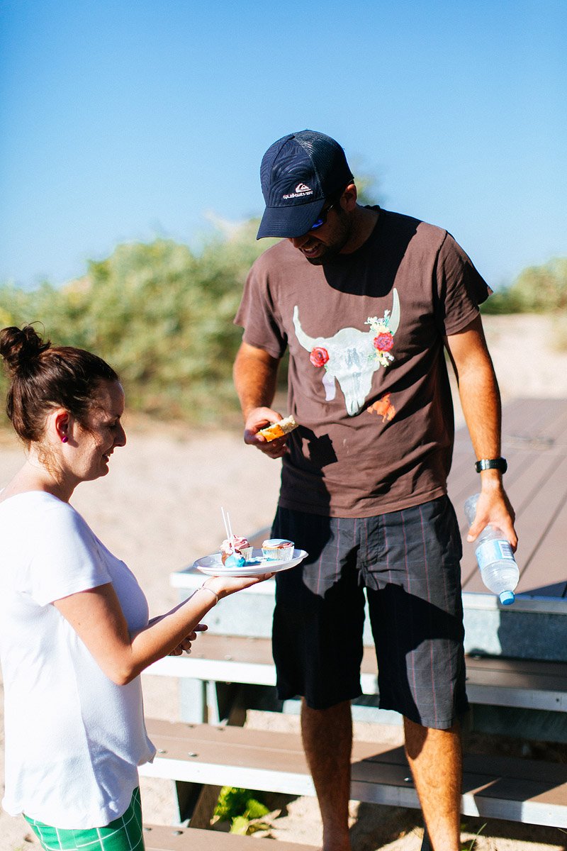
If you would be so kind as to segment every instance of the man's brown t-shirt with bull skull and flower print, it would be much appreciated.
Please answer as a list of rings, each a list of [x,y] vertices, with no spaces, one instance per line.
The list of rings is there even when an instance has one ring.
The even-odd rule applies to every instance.
[[[287,240],[252,266],[235,323],[290,352],[280,505],[371,517],[445,494],[454,436],[443,338],[490,289],[447,231],[379,211],[352,254],[311,266]]]

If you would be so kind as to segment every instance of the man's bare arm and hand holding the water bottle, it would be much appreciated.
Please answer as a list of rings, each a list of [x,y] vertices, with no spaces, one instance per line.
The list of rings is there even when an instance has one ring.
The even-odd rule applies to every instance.
[[[455,369],[462,412],[477,460],[499,458],[502,424],[500,391],[480,317],[458,334],[447,337],[445,346]],[[502,529],[515,550],[518,537],[513,528],[514,512],[502,485],[502,472],[484,470],[479,476],[479,504],[468,540],[474,540],[487,523],[492,523]]]

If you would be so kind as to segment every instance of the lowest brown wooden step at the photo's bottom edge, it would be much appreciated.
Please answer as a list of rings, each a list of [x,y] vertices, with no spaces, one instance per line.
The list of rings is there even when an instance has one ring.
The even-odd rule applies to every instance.
[[[144,825],[145,851],[315,851],[312,845],[239,837],[235,833],[194,827]],[[251,845],[253,842],[253,845]]]

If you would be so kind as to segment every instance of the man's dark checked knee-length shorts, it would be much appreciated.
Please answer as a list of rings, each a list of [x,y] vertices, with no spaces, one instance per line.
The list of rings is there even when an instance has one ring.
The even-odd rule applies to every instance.
[[[462,546],[448,497],[360,519],[278,508],[272,534],[309,553],[276,575],[280,700],[326,709],[360,696],[366,588],[380,707],[438,729],[467,711]]]

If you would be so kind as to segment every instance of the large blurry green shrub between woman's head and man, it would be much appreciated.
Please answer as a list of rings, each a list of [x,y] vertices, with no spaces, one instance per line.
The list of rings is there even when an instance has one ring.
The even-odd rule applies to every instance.
[[[61,288],[0,287],[1,327],[40,322],[54,344],[96,351],[121,375],[128,408],[226,420],[238,408],[232,363],[242,332],[232,320],[266,247],[256,227],[217,237],[200,254],[165,239],[119,245]]]

